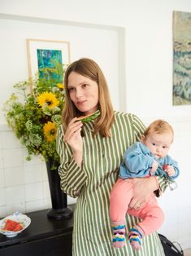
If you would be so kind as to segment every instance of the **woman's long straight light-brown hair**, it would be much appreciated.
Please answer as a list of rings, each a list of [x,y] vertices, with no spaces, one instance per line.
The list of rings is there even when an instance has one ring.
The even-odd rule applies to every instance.
[[[98,83],[98,108],[100,110],[100,116],[94,123],[93,135],[100,133],[102,137],[110,136],[110,128],[114,121],[114,110],[111,104],[110,94],[108,86],[106,84],[106,78],[102,73],[102,69],[99,68],[93,60],[80,59],[73,62],[68,68],[64,76],[64,86],[66,90],[65,106],[63,108],[63,128],[66,130],[68,123],[74,117],[80,117],[83,113],[75,107],[70,99],[69,91],[67,90],[67,80],[70,73],[76,72],[84,77]]]

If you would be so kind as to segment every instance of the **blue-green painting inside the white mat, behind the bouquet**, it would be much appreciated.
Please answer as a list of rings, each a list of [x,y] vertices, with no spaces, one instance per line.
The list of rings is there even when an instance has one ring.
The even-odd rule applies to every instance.
[[[63,82],[62,51],[37,49],[39,77]]]

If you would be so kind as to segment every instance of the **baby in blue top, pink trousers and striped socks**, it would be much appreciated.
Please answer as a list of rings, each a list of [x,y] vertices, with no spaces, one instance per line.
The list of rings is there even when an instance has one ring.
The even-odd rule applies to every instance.
[[[141,142],[134,143],[124,153],[124,161],[119,168],[119,179],[111,191],[110,218],[115,248],[125,244],[125,214],[132,214],[141,221],[132,227],[128,240],[133,249],[141,249],[141,238],[149,235],[163,223],[163,210],[158,206],[154,194],[145,205],[128,207],[133,197],[133,183],[137,177],[157,175],[173,182],[179,175],[177,162],[167,155],[174,132],[167,121],[156,120],[148,126]]]

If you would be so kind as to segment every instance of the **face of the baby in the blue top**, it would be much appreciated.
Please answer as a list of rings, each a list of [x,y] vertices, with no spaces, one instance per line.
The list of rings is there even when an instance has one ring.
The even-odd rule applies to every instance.
[[[172,140],[173,135],[167,132],[164,134],[150,134],[142,142],[150,149],[154,157],[163,158],[167,156]]]

